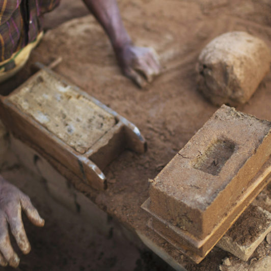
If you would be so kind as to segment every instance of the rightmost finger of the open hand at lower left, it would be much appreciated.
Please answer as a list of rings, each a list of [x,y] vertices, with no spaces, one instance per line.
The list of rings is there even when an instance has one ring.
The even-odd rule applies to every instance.
[[[37,211],[37,209],[32,205],[31,200],[28,196],[21,193],[20,195],[21,207],[28,219],[38,227],[44,226],[44,219],[42,219]]]

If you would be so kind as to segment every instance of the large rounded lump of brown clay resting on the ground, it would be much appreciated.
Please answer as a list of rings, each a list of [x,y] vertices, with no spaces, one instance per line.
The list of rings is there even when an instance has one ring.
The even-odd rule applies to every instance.
[[[270,49],[246,32],[229,32],[201,51],[198,89],[215,105],[247,102],[269,72]]]

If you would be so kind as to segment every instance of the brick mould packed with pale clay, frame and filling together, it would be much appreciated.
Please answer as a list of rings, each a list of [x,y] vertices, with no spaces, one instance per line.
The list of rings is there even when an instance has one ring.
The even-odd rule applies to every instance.
[[[41,70],[18,89],[1,96],[3,123],[93,188],[104,189],[101,170],[125,148],[145,152],[145,139],[115,111],[39,66]]]

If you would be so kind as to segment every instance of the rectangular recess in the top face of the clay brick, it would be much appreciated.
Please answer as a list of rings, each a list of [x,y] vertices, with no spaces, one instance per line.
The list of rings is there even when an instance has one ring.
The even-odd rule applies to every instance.
[[[203,155],[196,159],[193,167],[212,175],[219,175],[226,161],[233,154],[234,148],[235,145],[232,141],[216,140]]]

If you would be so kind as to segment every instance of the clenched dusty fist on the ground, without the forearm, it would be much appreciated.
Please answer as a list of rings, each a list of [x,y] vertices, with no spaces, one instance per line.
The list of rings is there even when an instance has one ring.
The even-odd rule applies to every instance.
[[[116,55],[124,75],[141,88],[146,85],[145,79],[150,83],[161,71],[157,53],[152,48],[126,44]]]

